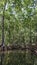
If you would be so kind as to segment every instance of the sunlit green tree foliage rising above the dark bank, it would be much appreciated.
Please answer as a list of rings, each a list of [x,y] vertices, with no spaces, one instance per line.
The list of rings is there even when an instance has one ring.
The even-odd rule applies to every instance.
[[[37,5],[34,0],[1,0],[0,1],[0,30],[4,11],[5,44],[32,43],[35,39],[37,28]],[[10,32],[10,34],[9,34]],[[0,33],[1,34],[1,33]],[[15,35],[16,34],[16,35]],[[24,40],[23,40],[24,37]],[[1,38],[1,36],[0,36]],[[9,39],[10,38],[10,39]],[[9,41],[10,40],[10,41]],[[23,40],[23,41],[21,41]],[[35,42],[34,42],[35,43]]]

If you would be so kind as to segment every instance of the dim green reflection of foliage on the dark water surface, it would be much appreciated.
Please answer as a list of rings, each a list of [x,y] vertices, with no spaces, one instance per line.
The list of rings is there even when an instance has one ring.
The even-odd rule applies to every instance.
[[[36,56],[33,55],[31,59],[29,54],[27,54],[26,57],[25,51],[23,53],[13,51],[11,53],[6,53],[5,55],[3,61],[4,65],[33,65],[33,61],[35,61],[34,58],[36,58]]]

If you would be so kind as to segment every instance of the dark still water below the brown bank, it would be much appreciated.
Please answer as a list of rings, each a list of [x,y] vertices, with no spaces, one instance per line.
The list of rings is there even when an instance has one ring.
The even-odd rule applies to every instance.
[[[2,57],[2,59],[1,59]],[[13,51],[0,55],[0,65],[37,65],[37,56],[30,51]]]

